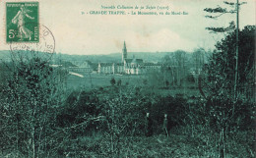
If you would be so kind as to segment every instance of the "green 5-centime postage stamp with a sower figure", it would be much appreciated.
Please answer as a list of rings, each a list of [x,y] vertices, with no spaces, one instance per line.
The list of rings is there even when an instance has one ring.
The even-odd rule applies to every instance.
[[[38,2],[6,3],[6,41],[38,42]]]

